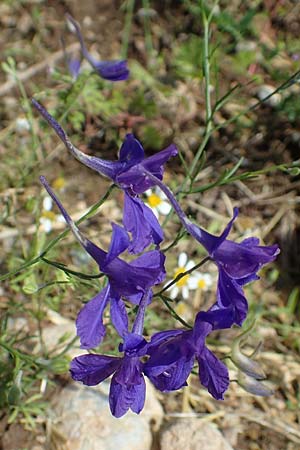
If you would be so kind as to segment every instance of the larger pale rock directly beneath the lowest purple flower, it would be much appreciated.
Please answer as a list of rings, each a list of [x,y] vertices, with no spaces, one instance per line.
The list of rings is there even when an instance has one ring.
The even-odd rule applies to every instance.
[[[163,411],[147,386],[147,400],[139,415],[114,418],[108,405],[109,383],[87,387],[73,383],[60,392],[50,425],[51,450],[150,450],[150,421],[159,427]]]

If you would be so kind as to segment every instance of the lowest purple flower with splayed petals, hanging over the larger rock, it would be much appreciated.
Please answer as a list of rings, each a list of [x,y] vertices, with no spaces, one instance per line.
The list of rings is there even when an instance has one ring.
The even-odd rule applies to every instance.
[[[119,345],[122,357],[106,355],[82,355],[73,359],[70,366],[74,380],[88,386],[101,383],[110,375],[109,404],[115,417],[123,416],[128,409],[139,413],[145,403],[145,380],[141,357],[147,353],[147,342],[142,336],[144,314],[150,301],[151,291],[146,292],[140,302],[132,332],[128,331],[128,316],[124,303],[112,300],[112,321],[123,339]]]

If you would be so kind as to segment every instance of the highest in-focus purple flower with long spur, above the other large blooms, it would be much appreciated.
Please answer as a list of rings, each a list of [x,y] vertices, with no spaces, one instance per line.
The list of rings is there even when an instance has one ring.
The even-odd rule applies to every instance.
[[[152,242],[159,245],[163,240],[163,231],[152,210],[138,198],[138,195],[156,184],[143,174],[144,170],[152,174],[155,180],[162,180],[164,164],[172,156],[177,155],[175,145],[170,145],[165,150],[146,158],[140,142],[132,134],[127,134],[117,161],[89,156],[71,143],[65,130],[40,103],[32,99],[32,104],[78,161],[100,175],[110,178],[124,191],[123,224],[132,235],[128,251],[139,253]]]

